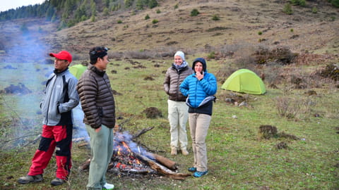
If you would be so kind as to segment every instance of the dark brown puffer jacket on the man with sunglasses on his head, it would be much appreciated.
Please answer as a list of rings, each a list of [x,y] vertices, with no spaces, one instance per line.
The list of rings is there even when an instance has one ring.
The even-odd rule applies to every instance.
[[[115,125],[115,104],[109,78],[105,71],[88,65],[77,84],[81,107],[85,113],[83,122],[95,129]]]

